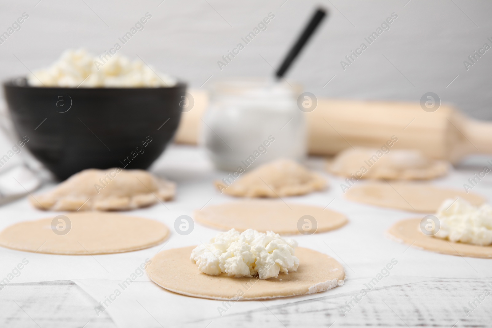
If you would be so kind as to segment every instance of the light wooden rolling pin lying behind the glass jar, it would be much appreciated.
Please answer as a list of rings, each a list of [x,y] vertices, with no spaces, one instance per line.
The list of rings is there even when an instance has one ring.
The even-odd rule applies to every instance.
[[[208,96],[188,92],[195,105],[183,113],[175,141],[196,144]],[[469,119],[445,104],[429,113],[419,103],[318,98],[306,118],[311,155],[335,155],[351,146],[381,148],[392,136],[398,138],[392,149],[420,149],[451,162],[473,153],[492,154],[492,122]]]

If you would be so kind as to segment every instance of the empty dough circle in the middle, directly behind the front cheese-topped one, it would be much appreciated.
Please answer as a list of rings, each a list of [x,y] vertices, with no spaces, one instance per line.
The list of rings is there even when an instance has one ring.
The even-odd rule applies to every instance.
[[[348,222],[345,215],[329,209],[273,200],[233,202],[195,211],[198,222],[216,229],[234,228],[239,232],[254,229],[280,235],[300,234],[297,224],[304,215],[316,220],[316,232],[334,230]]]

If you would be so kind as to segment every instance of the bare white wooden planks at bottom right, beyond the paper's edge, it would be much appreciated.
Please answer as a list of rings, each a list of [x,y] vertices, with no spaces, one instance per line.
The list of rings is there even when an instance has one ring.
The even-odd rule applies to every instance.
[[[359,292],[320,297],[240,314],[204,320],[205,327],[491,327],[492,294],[475,309],[468,304],[491,279],[436,279],[374,288],[358,303]],[[360,298],[360,297],[358,297]],[[472,312],[465,314],[466,306]],[[349,309],[343,311],[342,309]],[[199,325],[195,327],[200,327]]]

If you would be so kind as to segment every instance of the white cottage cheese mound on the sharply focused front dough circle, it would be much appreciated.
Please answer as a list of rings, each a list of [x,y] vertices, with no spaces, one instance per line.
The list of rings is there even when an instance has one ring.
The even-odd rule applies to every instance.
[[[209,244],[197,246],[191,261],[206,274],[227,273],[233,277],[277,278],[279,272],[296,271],[299,259],[294,256],[297,242],[248,229],[240,234],[235,229],[219,233]]]

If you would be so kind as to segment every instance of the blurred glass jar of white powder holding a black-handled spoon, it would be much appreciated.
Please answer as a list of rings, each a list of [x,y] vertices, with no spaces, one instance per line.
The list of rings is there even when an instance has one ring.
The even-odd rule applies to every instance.
[[[225,171],[256,167],[276,158],[306,157],[306,122],[297,106],[301,88],[263,79],[214,84],[201,143]],[[240,172],[242,173],[242,172]]]

